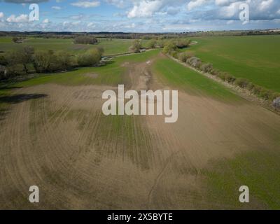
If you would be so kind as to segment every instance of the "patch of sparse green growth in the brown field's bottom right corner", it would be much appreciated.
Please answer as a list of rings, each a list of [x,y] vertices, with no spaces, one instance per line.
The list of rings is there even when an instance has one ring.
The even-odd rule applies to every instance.
[[[216,160],[211,167],[202,170],[205,183],[209,187],[207,200],[216,202],[213,209],[246,208],[238,200],[237,186],[250,186],[251,202],[257,202],[267,209],[280,208],[280,153],[260,148],[248,153],[240,153],[233,159]],[[220,205],[219,205],[220,204]]]

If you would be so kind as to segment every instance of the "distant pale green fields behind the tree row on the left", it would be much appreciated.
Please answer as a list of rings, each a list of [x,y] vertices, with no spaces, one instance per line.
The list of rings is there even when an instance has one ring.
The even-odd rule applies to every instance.
[[[76,54],[85,50],[96,48],[97,46],[104,48],[104,55],[116,55],[129,51],[132,45],[130,39],[106,39],[99,38],[97,45],[74,44],[72,39],[59,38],[27,38],[24,43],[13,43],[12,37],[0,37],[0,52],[15,50],[25,45],[31,45],[36,50],[66,50],[69,53]]]

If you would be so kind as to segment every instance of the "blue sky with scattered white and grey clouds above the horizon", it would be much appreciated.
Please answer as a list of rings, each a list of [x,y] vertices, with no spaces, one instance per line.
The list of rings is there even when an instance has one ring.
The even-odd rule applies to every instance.
[[[30,20],[31,3],[38,4],[37,21]],[[240,15],[248,15],[248,20],[241,20]],[[279,0],[0,0],[1,31],[186,32],[277,28]]]

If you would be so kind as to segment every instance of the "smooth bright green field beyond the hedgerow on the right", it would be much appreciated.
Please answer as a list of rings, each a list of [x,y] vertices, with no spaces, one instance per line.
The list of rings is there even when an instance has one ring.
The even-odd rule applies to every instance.
[[[214,68],[280,92],[280,36],[193,38],[188,50]]]

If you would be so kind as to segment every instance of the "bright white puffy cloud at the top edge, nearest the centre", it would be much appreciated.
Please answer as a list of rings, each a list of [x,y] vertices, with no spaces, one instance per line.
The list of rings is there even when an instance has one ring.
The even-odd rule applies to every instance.
[[[146,1],[142,0],[127,13],[128,18],[147,18],[151,17],[155,12],[162,7],[162,1]]]

